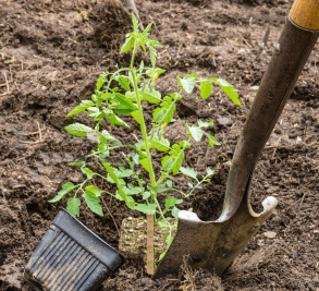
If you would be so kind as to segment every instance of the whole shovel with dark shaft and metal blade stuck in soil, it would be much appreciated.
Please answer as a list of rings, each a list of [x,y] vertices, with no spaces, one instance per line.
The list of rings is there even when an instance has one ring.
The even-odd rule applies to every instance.
[[[277,206],[270,196],[262,202],[263,211],[254,213],[253,172],[317,41],[318,29],[319,0],[296,0],[237,142],[220,217],[201,221],[194,213],[180,211],[176,235],[154,279],[169,274],[177,277],[186,255],[192,268],[222,275]]]

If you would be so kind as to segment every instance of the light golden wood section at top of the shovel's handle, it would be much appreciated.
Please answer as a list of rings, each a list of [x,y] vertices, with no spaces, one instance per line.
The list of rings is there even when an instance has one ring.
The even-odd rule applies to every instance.
[[[297,26],[310,29],[319,29],[319,0],[295,0],[290,20]]]

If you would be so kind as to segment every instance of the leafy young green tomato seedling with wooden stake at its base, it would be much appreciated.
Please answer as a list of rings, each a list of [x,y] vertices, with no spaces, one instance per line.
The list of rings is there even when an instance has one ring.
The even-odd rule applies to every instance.
[[[183,98],[184,94],[193,93],[197,86],[199,86],[201,98],[208,99],[212,94],[213,85],[218,85],[234,104],[241,105],[241,102],[236,90],[226,81],[218,77],[200,80],[194,73],[184,77],[177,76],[180,90],[162,97],[161,93],[155,88],[157,78],[164,73],[164,70],[156,66],[157,48],[160,44],[149,38],[151,24],[140,33],[134,14],[132,19],[133,32],[126,35],[120,51],[121,53],[132,51],[130,66],[116,68],[113,73],[101,74],[97,80],[91,99],[82,100],[68,114],[68,117],[73,117],[86,111],[95,122],[94,128],[77,122],[65,128],[71,135],[88,137],[97,144],[84,161],[70,163],[70,166],[79,167],[85,179],[78,184],[72,182],[63,184],[62,190],[50,203],[71,195],[68,199],[68,210],[72,215],[78,216],[82,203],[79,194],[82,194],[89,209],[102,216],[100,197],[108,194],[124,202],[130,209],[145,214],[148,221],[147,271],[152,274],[155,267],[154,223],[157,223],[161,230],[167,230],[168,248],[176,229],[177,220],[172,218],[176,218],[179,215],[177,205],[183,202],[183,198],[189,197],[200,189],[203,183],[209,182],[213,174],[213,170],[207,168],[206,174],[199,179],[196,170],[182,167],[185,151],[194,142],[203,138],[206,138],[211,147],[219,145],[214,136],[206,131],[212,125],[212,122],[201,120],[198,120],[197,124],[185,124],[188,138],[171,145],[170,141],[164,137],[164,129],[167,124],[173,122],[176,102]],[[149,53],[149,66],[145,65],[144,61],[138,66],[135,65],[136,53],[139,50]],[[146,123],[144,102],[157,106],[152,111],[151,124]],[[138,137],[135,136],[136,143],[123,144],[107,130],[109,126],[128,128],[127,118],[124,120],[122,116],[131,116],[138,123],[140,132]],[[132,120],[132,122],[134,121]],[[123,154],[124,162],[114,165],[110,157],[112,153],[119,153],[119,150]],[[157,172],[151,155],[154,150],[158,155],[162,155],[161,169]],[[97,159],[107,174],[90,169],[87,163],[91,159]],[[148,178],[145,177],[145,172]],[[195,181],[195,185],[188,182],[191,189],[188,193],[173,186],[174,177],[177,174],[184,174]],[[97,181],[100,179],[113,184],[115,192],[99,189]],[[179,196],[167,196],[161,203],[159,195],[168,192],[177,193]],[[164,253],[160,255],[160,259]]]

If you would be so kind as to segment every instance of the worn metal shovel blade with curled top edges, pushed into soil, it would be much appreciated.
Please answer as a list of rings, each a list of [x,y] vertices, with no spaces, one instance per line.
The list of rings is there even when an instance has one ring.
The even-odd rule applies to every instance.
[[[223,222],[206,222],[194,213],[180,211],[174,243],[154,278],[168,274],[179,275],[183,264],[181,254],[189,255],[188,264],[192,268],[212,270],[220,276],[259,230],[277,206],[277,199],[272,196],[266,198],[262,202],[263,211],[259,215],[248,209],[247,205],[243,199],[237,211]]]

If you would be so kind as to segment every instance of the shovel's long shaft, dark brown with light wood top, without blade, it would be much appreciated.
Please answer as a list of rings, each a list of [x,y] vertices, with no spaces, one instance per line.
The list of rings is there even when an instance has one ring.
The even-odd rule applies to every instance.
[[[296,0],[238,138],[219,221],[234,215],[249,192],[256,162],[318,39],[319,0]],[[306,29],[316,27],[315,29]],[[248,197],[248,196],[247,196]],[[247,202],[249,203],[249,202]]]

